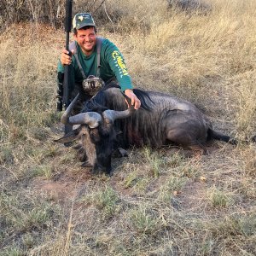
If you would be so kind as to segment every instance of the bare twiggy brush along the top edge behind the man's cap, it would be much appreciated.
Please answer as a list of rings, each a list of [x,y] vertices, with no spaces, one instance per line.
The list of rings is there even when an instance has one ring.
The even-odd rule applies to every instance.
[[[120,26],[123,26],[125,21],[129,21],[127,23],[129,27],[135,23],[142,25],[147,16],[162,6],[166,8],[167,2],[161,0],[148,4],[143,0],[140,4],[134,5],[131,0],[74,0],[73,13],[90,12],[98,26],[109,24],[109,29],[113,31],[113,25],[119,22],[121,22]],[[20,21],[47,23],[60,28],[64,25],[65,4],[65,0],[2,0],[0,2],[0,29],[3,31],[10,24]],[[137,15],[140,12],[141,14]]]

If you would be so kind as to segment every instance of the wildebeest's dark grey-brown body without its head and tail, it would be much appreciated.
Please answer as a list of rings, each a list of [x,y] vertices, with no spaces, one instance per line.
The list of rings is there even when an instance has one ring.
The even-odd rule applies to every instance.
[[[134,91],[140,98],[144,96],[143,91]],[[119,146],[150,145],[159,148],[167,143],[175,143],[189,147],[207,141],[207,131],[212,126],[195,105],[160,92],[147,91],[147,96],[144,101],[149,110],[139,108],[130,117],[115,121],[115,129],[122,131]],[[103,91],[94,102],[108,109],[127,108],[124,96],[116,88]]]

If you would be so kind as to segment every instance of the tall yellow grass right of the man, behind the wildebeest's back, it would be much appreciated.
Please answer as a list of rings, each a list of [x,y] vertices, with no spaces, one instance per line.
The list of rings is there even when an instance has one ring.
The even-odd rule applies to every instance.
[[[128,34],[103,35],[125,50],[137,86],[187,98],[245,137],[255,131],[255,3],[207,2],[207,15],[144,8],[146,35],[131,17]]]

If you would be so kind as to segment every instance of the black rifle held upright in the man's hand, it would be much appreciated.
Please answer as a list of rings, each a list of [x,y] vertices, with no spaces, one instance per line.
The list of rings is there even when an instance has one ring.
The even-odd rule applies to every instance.
[[[73,0],[66,0],[66,20],[65,20],[65,32],[66,32],[66,49],[69,51],[69,33],[71,32],[72,24],[72,6]],[[69,52],[71,55],[71,52]],[[65,109],[70,103],[69,92],[70,92],[70,66],[64,67],[64,83],[63,83],[63,102]]]

